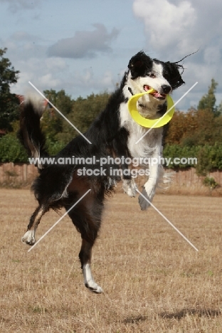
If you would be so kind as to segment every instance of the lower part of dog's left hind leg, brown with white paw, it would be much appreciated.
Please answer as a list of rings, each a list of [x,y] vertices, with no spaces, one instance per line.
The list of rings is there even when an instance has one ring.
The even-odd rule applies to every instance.
[[[33,245],[36,242],[36,229],[38,228],[38,224],[41,221],[41,218],[44,213],[46,213],[47,209],[43,206],[38,206],[36,208],[36,211],[32,214],[28,228],[26,233],[24,234],[23,238],[21,238],[21,241],[23,243],[26,243],[28,245]]]

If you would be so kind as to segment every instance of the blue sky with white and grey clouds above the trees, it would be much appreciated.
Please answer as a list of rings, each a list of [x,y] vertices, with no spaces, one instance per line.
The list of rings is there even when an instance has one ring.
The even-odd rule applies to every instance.
[[[11,92],[61,90],[73,98],[111,93],[129,59],[143,50],[151,58],[184,59],[185,85],[176,107],[196,107],[211,79],[222,100],[222,1],[211,0],[0,0],[0,48],[19,70]]]

